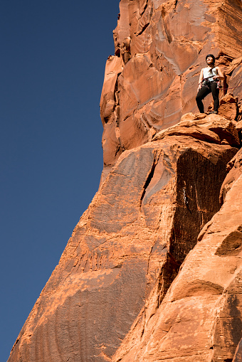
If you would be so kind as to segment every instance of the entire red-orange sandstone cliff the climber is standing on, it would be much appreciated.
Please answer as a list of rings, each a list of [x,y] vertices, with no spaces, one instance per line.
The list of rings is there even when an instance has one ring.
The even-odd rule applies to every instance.
[[[241,20],[240,0],[120,1],[100,188],[9,362],[242,361]],[[207,53],[219,115],[196,110]]]

